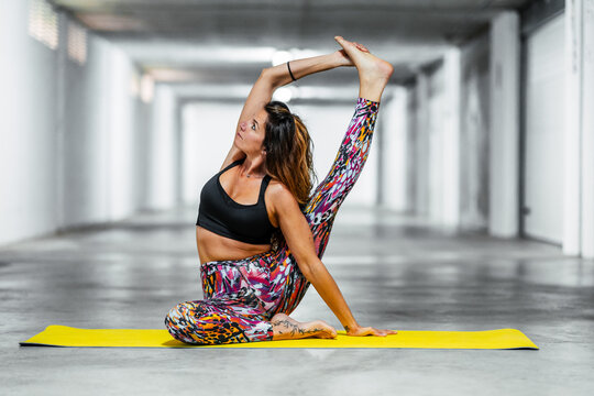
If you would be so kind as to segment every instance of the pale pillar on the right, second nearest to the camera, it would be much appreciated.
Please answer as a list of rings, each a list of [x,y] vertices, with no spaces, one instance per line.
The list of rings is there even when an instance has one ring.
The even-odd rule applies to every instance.
[[[519,18],[504,11],[491,23],[488,232],[513,238],[519,228]]]

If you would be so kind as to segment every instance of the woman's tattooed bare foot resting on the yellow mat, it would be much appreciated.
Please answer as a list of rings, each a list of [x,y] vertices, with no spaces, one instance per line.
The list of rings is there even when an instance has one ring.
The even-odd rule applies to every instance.
[[[337,330],[323,320],[298,322],[285,314],[276,314],[271,323],[273,326],[273,340],[296,340],[308,337],[336,338]]]

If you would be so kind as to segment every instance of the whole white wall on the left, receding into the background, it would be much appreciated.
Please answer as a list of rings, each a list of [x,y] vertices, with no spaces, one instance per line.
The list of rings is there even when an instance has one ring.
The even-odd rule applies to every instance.
[[[0,2],[0,244],[121,219],[142,205],[148,105],[130,59],[87,32],[87,58],[30,32],[29,1]],[[166,123],[164,123],[166,127]]]

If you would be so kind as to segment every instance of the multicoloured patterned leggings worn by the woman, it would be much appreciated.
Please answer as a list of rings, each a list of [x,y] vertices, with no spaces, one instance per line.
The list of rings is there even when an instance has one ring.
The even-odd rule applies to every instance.
[[[378,108],[377,101],[358,98],[332,168],[304,209],[320,258],[338,209],[367,160]],[[205,263],[200,278],[205,299],[178,304],[165,317],[169,333],[193,344],[272,340],[272,317],[295,310],[310,285],[286,243],[242,260]]]

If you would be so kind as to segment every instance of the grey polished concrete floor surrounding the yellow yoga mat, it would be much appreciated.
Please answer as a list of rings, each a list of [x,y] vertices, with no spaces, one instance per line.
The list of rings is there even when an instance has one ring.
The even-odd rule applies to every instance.
[[[2,395],[592,395],[594,263],[343,207],[323,257],[363,326],[516,328],[540,351],[21,348],[47,324],[163,328],[201,298],[196,208],[0,248]],[[311,287],[292,315],[340,322]]]

